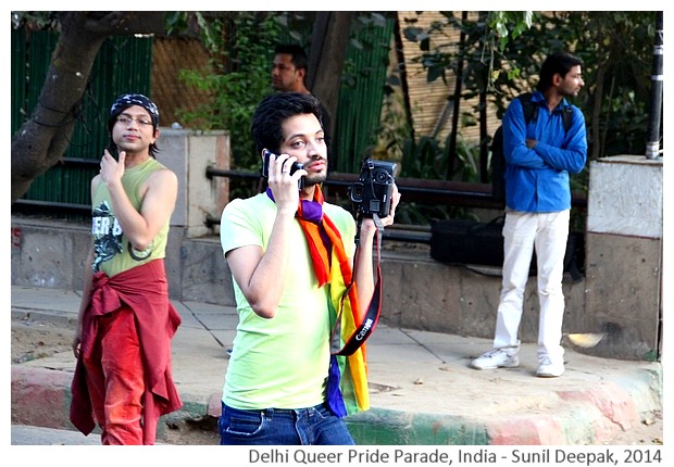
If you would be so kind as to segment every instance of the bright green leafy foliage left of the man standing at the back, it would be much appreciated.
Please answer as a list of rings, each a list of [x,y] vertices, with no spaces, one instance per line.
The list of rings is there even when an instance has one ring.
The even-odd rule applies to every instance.
[[[183,70],[180,79],[204,91],[210,99],[192,111],[176,113],[185,126],[224,129],[230,136],[232,168],[257,172],[260,156],[254,151],[250,122],[260,101],[273,92],[271,64],[279,42],[302,43],[307,18],[302,13],[202,12],[167,14],[171,34],[192,30],[199,34],[211,55],[209,70]],[[304,35],[305,36],[305,35]],[[249,181],[232,179],[230,194],[248,197],[257,191]]]

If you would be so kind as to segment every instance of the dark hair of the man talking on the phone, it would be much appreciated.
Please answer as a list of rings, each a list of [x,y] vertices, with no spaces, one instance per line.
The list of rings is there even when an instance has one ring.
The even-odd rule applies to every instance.
[[[300,92],[279,92],[262,100],[255,109],[250,127],[255,151],[263,149],[278,153],[283,142],[280,125],[295,115],[314,114],[322,123],[321,103],[312,94]]]

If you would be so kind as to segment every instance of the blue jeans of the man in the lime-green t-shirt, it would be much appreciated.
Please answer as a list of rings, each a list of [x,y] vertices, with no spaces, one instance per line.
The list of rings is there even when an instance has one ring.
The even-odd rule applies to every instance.
[[[347,424],[324,405],[298,409],[240,411],[223,403],[220,444],[352,445]]]

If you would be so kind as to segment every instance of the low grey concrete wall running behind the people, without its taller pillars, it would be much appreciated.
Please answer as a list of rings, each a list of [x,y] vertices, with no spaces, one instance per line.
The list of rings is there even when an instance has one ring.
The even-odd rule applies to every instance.
[[[82,290],[87,225],[12,217],[12,283]],[[85,243],[86,242],[86,243]],[[232,276],[214,235],[188,238],[172,227],[166,252],[171,296],[235,305]],[[383,245],[382,323],[391,326],[480,338],[494,337],[500,269],[449,266],[430,258],[426,245]],[[577,331],[585,308],[584,281],[564,279],[566,319]],[[529,278],[522,320],[522,340],[535,342],[538,299]]]

